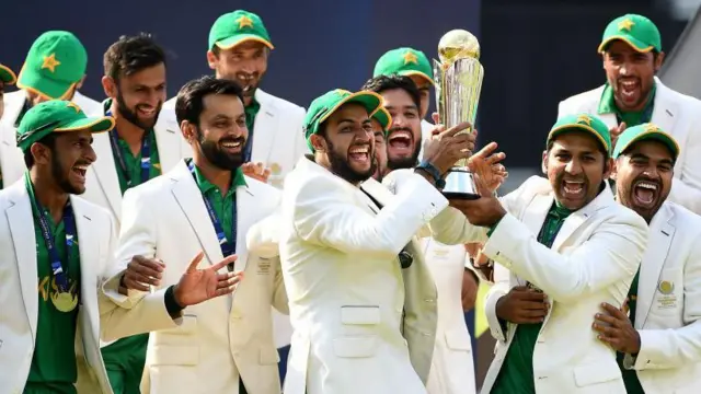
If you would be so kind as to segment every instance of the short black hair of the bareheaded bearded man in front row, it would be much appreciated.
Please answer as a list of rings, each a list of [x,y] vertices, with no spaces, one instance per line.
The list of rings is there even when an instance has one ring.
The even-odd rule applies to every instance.
[[[185,83],[177,92],[175,100],[177,124],[187,120],[191,124],[199,125],[199,116],[205,111],[205,96],[209,94],[237,96],[243,103],[243,91],[238,83],[211,76],[200,77]]]

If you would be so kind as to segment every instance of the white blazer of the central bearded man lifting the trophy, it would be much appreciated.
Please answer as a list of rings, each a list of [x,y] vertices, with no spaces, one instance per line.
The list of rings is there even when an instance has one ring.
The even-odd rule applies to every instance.
[[[404,281],[418,277],[402,273],[398,254],[448,201],[420,175],[397,196],[383,192],[390,198],[378,212],[358,187],[307,158],[285,179],[280,257],[295,327],[287,394],[426,392],[402,328],[425,334],[429,355],[434,339],[418,308],[406,308],[405,297],[420,302],[423,293],[405,293]]]

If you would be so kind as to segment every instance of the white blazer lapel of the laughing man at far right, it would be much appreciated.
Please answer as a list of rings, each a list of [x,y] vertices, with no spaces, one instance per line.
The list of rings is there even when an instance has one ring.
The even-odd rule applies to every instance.
[[[657,289],[659,275],[671,247],[677,228],[674,225],[674,213],[666,206],[655,215],[650,225],[650,240],[647,248],[641,262],[640,277],[637,281],[637,310],[635,312],[635,325],[642,328],[647,321],[653,297]],[[643,290],[643,291],[641,291]]]

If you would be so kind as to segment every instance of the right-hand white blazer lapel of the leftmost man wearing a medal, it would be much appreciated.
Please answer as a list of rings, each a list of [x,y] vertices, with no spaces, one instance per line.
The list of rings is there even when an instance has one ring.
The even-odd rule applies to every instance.
[[[92,332],[90,335],[96,340],[100,338],[97,327],[100,327],[100,311],[97,308],[97,298],[94,297],[97,289],[97,276],[100,273],[95,269],[95,264],[100,259],[100,243],[95,223],[89,215],[82,209],[82,201],[71,197],[73,207],[73,217],[76,218],[76,231],[78,232],[78,248],[80,253],[80,305],[84,309],[83,316],[90,320]],[[83,325],[84,327],[84,325]],[[83,333],[88,335],[88,333]]]

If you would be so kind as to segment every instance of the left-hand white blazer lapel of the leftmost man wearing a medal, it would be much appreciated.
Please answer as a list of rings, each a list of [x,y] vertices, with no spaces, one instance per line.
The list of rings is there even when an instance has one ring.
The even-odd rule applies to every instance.
[[[12,185],[12,201],[5,215],[12,233],[14,251],[20,273],[20,286],[22,298],[26,305],[26,314],[32,327],[32,335],[36,337],[36,321],[38,316],[38,298],[36,296],[37,269],[36,269],[36,237],[34,236],[34,218],[32,217],[32,204],[23,181]]]

